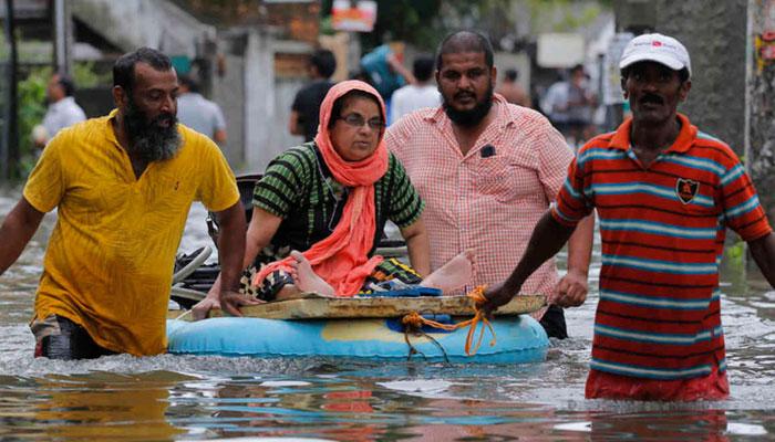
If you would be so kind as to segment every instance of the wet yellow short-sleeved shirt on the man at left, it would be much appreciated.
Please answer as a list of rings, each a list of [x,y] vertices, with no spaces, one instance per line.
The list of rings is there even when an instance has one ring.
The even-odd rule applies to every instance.
[[[218,147],[183,125],[175,157],[136,179],[111,125],[115,114],[60,131],[24,187],[35,209],[59,213],[35,317],[61,315],[102,347],[156,355],[167,344],[175,253],[192,202],[220,211],[239,192]]]

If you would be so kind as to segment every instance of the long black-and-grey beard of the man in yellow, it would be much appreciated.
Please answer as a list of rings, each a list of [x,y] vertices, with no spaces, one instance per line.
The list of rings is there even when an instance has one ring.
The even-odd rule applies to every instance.
[[[159,123],[164,120],[170,122],[169,126],[161,126]],[[132,98],[124,109],[124,129],[130,138],[131,154],[148,162],[173,158],[180,147],[177,117],[166,113],[148,120]]]

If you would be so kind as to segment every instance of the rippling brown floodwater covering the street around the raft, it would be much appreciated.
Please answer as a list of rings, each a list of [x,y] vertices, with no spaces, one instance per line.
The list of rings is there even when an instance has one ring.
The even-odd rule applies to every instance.
[[[0,196],[0,218],[18,196]],[[193,209],[183,251],[209,244],[204,217]],[[0,440],[775,440],[775,292],[734,256],[722,306],[731,399],[602,401],[583,399],[596,291],[567,311],[571,338],[535,365],[33,359],[27,323],[54,218],[0,277]]]

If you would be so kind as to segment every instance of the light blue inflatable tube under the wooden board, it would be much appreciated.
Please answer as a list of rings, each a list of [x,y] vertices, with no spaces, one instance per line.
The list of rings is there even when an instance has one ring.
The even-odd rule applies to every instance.
[[[412,358],[452,362],[524,364],[546,358],[549,346],[544,327],[527,315],[498,317],[492,322],[496,334],[485,337],[478,352],[465,354],[467,329],[424,329],[431,339],[410,335],[420,351]],[[479,326],[480,327],[480,326]],[[167,320],[168,351],[185,355],[272,357],[334,357],[405,360],[410,347],[399,319],[279,320],[219,317],[188,323]],[[478,338],[478,330],[476,334]],[[423,357],[422,355],[425,357]]]

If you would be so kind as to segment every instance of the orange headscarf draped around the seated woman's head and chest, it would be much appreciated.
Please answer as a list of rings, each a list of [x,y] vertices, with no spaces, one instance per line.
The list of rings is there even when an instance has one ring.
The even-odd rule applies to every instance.
[[[303,252],[314,273],[333,287],[337,296],[343,297],[358,294],[366,276],[382,262],[382,256],[379,255],[369,259],[369,251],[372,249],[376,230],[374,182],[388,172],[388,148],[382,135],[374,154],[360,161],[342,159],[331,144],[329,122],[332,117],[338,117],[331,115],[333,103],[351,91],[363,91],[373,95],[380,103],[383,117],[385,116],[385,105],[380,94],[366,83],[342,82],[331,87],[326,95],[320,106],[320,126],[314,143],[333,178],[351,188],[351,191],[342,218],[333,232]],[[292,260],[288,256],[265,266],[256,275],[254,284],[259,285],[276,270],[289,271]]]

